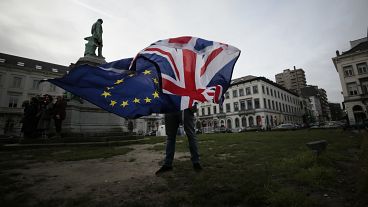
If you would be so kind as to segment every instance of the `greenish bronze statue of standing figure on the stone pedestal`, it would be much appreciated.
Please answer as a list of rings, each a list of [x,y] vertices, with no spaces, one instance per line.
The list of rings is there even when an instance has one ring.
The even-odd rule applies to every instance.
[[[84,56],[96,56],[96,48],[98,48],[98,57],[102,56],[102,19],[98,19],[91,28],[92,36],[85,37],[88,42],[85,44]]]

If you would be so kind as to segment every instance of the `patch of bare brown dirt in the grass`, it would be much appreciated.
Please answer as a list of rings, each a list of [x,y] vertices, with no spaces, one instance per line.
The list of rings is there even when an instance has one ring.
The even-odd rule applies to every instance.
[[[28,169],[14,170],[19,180],[31,186],[25,192],[38,201],[76,199],[89,196],[94,203],[120,206],[167,191],[163,178],[155,176],[164,152],[149,150],[153,145],[132,145],[126,155],[107,159],[29,164]],[[176,152],[180,160],[189,153]],[[150,190],[151,189],[151,190]],[[150,194],[151,193],[151,194]]]

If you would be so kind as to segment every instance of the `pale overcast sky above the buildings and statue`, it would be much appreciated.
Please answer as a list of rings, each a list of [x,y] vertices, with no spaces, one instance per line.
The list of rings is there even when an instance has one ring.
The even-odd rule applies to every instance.
[[[367,0],[1,0],[0,52],[68,66],[102,18],[108,62],[160,39],[196,36],[242,51],[233,78],[274,81],[296,66],[341,102],[331,58],[367,36],[367,8]]]

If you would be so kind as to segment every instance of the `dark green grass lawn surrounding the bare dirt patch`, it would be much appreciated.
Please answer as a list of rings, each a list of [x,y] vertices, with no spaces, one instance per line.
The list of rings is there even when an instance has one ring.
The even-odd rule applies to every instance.
[[[321,139],[326,140],[328,146],[317,157],[306,147],[306,143]],[[155,144],[164,140],[164,137],[150,137],[136,144]],[[152,145],[150,149],[152,153],[163,152],[164,145]],[[108,202],[109,197],[93,203],[91,198],[94,195],[89,192],[76,198],[75,202],[46,201],[46,204],[106,206],[106,202],[108,206],[368,206],[367,132],[334,129],[207,134],[199,135],[199,149],[204,167],[202,172],[194,172],[188,159],[177,159],[174,161],[174,170],[159,177],[164,185],[142,180],[139,182],[143,186],[139,189],[139,196],[138,192],[125,193],[129,202],[124,205]],[[2,151],[0,193],[9,198],[10,194],[30,187],[16,179],[18,174],[11,173],[14,169],[27,168],[29,163],[83,162],[125,155],[132,150],[128,145]],[[186,138],[178,137],[176,150],[188,151]],[[153,174],[151,176],[155,177]],[[114,192],[114,195],[123,197],[119,194],[123,192]],[[31,197],[32,194],[23,193],[16,197],[18,202],[2,198],[0,202],[16,206],[20,204],[19,199],[24,204]],[[47,206],[45,201],[43,205]]]

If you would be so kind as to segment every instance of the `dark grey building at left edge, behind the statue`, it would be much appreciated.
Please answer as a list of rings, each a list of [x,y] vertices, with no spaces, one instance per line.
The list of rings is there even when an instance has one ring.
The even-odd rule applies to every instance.
[[[41,94],[62,95],[64,90],[41,80],[67,71],[66,66],[0,53],[0,134],[20,132],[24,101]]]

